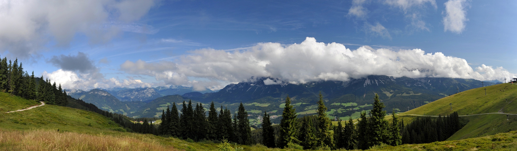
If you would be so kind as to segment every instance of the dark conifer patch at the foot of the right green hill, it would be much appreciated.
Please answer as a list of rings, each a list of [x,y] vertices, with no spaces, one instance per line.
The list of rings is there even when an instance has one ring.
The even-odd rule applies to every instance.
[[[402,129],[402,143],[421,144],[445,141],[463,127],[458,112],[438,118],[421,117]]]

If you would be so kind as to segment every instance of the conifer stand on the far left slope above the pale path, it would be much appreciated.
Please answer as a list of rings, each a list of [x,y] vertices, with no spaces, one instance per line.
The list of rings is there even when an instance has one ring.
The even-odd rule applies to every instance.
[[[0,61],[0,91],[10,93],[13,96],[20,96],[29,100],[43,101],[48,104],[66,106],[68,104],[66,90],[51,83],[50,80],[43,81],[23,71],[23,64],[18,59],[7,64],[7,58]]]

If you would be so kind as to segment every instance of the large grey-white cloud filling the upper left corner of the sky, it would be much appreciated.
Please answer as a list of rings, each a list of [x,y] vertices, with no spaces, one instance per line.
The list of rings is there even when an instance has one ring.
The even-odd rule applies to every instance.
[[[151,0],[0,1],[0,52],[26,58],[44,50],[49,41],[68,46],[77,33],[92,42],[107,42],[129,30],[121,25],[140,19],[154,5]]]

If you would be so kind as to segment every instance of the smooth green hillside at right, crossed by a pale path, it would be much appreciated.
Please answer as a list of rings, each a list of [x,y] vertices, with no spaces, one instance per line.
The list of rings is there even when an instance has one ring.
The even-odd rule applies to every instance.
[[[486,96],[484,88],[486,88]],[[450,103],[452,104],[452,110]],[[406,118],[415,118],[416,116],[407,116],[407,114],[443,116],[452,112],[458,112],[460,116],[472,116],[462,116],[462,118],[469,120],[469,122],[448,140],[483,137],[517,130],[517,115],[509,115],[507,117],[505,114],[483,114],[517,114],[517,85],[503,83],[466,90],[465,92],[422,105],[400,115]],[[406,116],[403,116],[404,114]]]

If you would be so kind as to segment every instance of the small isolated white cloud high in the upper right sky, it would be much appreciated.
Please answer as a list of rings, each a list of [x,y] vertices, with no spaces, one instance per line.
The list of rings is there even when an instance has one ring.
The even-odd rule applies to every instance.
[[[465,29],[467,19],[466,0],[449,0],[445,4],[444,31],[460,34]]]

